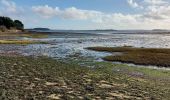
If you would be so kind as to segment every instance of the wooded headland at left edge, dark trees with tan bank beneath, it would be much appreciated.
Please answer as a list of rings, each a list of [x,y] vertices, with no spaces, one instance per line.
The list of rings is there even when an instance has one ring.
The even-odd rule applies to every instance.
[[[0,16],[0,32],[18,32],[24,30],[24,24],[20,20]]]

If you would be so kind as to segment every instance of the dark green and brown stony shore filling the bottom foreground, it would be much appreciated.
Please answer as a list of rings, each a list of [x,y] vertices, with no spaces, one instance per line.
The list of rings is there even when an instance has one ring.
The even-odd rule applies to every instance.
[[[170,82],[128,76],[111,63],[81,67],[39,57],[0,57],[0,99],[163,99]]]

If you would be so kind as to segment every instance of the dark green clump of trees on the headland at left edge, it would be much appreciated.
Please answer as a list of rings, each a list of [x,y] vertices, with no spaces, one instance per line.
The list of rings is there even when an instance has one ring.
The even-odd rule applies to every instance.
[[[6,29],[23,30],[24,24],[20,20],[12,20],[9,17],[0,16],[0,27]]]

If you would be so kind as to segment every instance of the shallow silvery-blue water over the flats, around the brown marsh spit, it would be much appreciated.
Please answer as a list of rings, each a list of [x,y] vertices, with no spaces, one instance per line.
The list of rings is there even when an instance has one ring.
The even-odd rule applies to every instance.
[[[170,48],[170,34],[52,34],[48,38],[32,39],[47,41],[49,44],[27,46],[0,45],[0,52],[17,52],[27,56],[49,56],[53,58],[91,57],[100,61],[107,52],[86,50],[94,46],[134,46],[145,48]]]

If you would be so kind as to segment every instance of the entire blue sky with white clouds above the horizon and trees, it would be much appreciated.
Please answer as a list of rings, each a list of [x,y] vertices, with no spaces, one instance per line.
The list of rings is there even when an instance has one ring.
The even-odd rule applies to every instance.
[[[170,0],[0,0],[25,28],[170,29]]]

